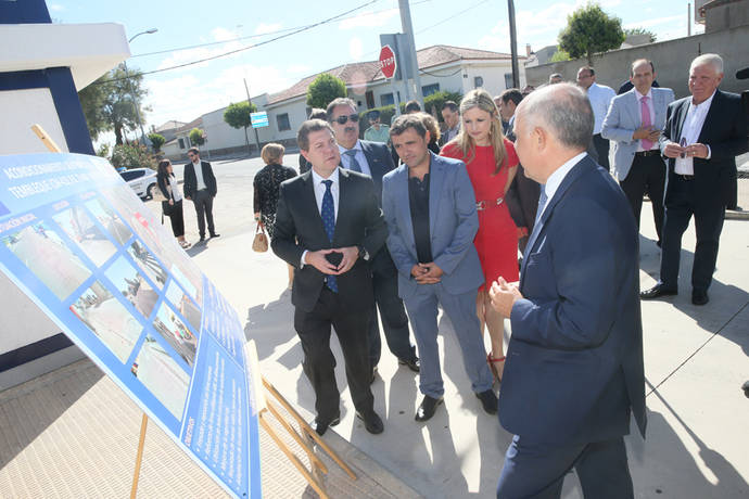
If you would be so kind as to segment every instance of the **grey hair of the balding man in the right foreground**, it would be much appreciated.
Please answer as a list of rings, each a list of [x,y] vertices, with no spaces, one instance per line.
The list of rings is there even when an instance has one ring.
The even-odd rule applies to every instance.
[[[545,125],[563,145],[586,150],[593,137],[593,107],[585,91],[572,84],[544,87],[528,95],[518,106],[526,129]]]

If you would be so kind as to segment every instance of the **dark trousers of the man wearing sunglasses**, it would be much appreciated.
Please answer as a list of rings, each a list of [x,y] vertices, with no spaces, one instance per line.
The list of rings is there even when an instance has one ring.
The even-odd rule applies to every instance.
[[[416,348],[408,340],[408,316],[398,296],[398,271],[384,247],[377,253],[372,261],[372,285],[376,305],[369,321],[369,363],[372,367],[377,366],[382,354],[378,308],[390,351],[398,359],[414,360]]]

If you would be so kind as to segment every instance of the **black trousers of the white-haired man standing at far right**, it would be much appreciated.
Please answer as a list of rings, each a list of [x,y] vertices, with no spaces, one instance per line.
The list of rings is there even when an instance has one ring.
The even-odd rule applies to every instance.
[[[719,193],[704,193],[697,180],[684,180],[678,175],[669,178],[663,246],[661,253],[661,282],[670,289],[678,286],[678,264],[682,235],[695,217],[695,260],[691,266],[691,287],[707,292],[718,260],[718,245],[723,230],[725,205]]]

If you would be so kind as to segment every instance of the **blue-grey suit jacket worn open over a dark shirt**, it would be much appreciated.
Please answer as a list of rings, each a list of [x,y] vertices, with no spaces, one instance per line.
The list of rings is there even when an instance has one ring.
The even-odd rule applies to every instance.
[[[429,235],[434,263],[445,272],[448,293],[478,290],[484,282],[473,238],[479,231],[475,195],[464,162],[430,153]],[[398,269],[398,295],[407,299],[419,284],[411,277],[418,263],[408,202],[408,167],[398,166],[382,179],[382,209],[388,248]]]

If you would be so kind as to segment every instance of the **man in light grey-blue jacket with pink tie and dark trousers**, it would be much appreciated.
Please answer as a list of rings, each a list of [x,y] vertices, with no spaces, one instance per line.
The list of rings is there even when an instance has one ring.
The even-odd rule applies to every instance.
[[[674,100],[674,92],[670,88],[653,88],[655,79],[652,62],[639,59],[632,63],[630,81],[634,88],[613,98],[600,135],[614,142],[614,175],[632,205],[638,229],[643,195],[647,192],[650,197],[660,247],[665,162],[658,139],[665,127],[665,111]]]

